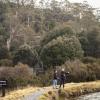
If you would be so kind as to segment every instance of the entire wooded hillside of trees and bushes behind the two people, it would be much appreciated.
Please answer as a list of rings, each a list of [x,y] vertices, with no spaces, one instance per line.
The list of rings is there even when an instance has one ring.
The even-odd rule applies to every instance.
[[[0,79],[9,87],[49,85],[60,68],[69,82],[100,79],[96,12],[86,1],[0,0]]]

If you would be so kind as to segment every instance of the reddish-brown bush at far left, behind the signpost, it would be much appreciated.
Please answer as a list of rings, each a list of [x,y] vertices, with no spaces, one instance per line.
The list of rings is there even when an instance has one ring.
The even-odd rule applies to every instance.
[[[30,68],[24,64],[15,67],[0,67],[0,79],[7,80],[8,88],[26,86],[32,80]]]

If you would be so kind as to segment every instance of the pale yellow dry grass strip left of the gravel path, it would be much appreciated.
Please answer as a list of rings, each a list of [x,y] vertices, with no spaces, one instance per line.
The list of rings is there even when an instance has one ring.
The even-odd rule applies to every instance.
[[[6,94],[5,97],[1,97],[0,100],[21,100],[22,97],[35,92],[37,89],[38,88],[36,87],[27,87],[24,89],[15,90]]]

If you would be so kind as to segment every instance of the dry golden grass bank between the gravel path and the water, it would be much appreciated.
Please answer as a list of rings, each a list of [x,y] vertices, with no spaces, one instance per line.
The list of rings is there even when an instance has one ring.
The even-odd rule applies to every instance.
[[[51,92],[51,91],[50,91]],[[65,85],[64,89],[60,89],[60,92],[57,90],[52,90],[52,94],[43,95],[43,99],[40,100],[53,100],[51,99],[54,95],[55,97],[59,97],[59,99],[64,100],[64,98],[73,98],[78,97],[80,95],[100,92],[100,81],[95,82],[84,82],[84,83],[68,83]],[[58,99],[55,99],[58,100]]]

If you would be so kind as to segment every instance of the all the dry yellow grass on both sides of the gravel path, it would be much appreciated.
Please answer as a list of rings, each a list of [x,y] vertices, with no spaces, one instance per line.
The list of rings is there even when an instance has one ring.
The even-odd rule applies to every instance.
[[[27,87],[24,89],[19,89],[10,92],[4,98],[0,100],[21,100],[23,96],[30,95],[31,93],[37,91],[37,87]],[[77,97],[87,93],[99,92],[100,91],[100,81],[95,82],[85,82],[85,83],[68,83],[65,85],[64,90],[61,89],[61,94],[57,90],[53,90],[52,87],[45,87],[45,94],[40,97],[40,100],[53,100],[57,97]],[[55,99],[58,100],[58,99]]]

